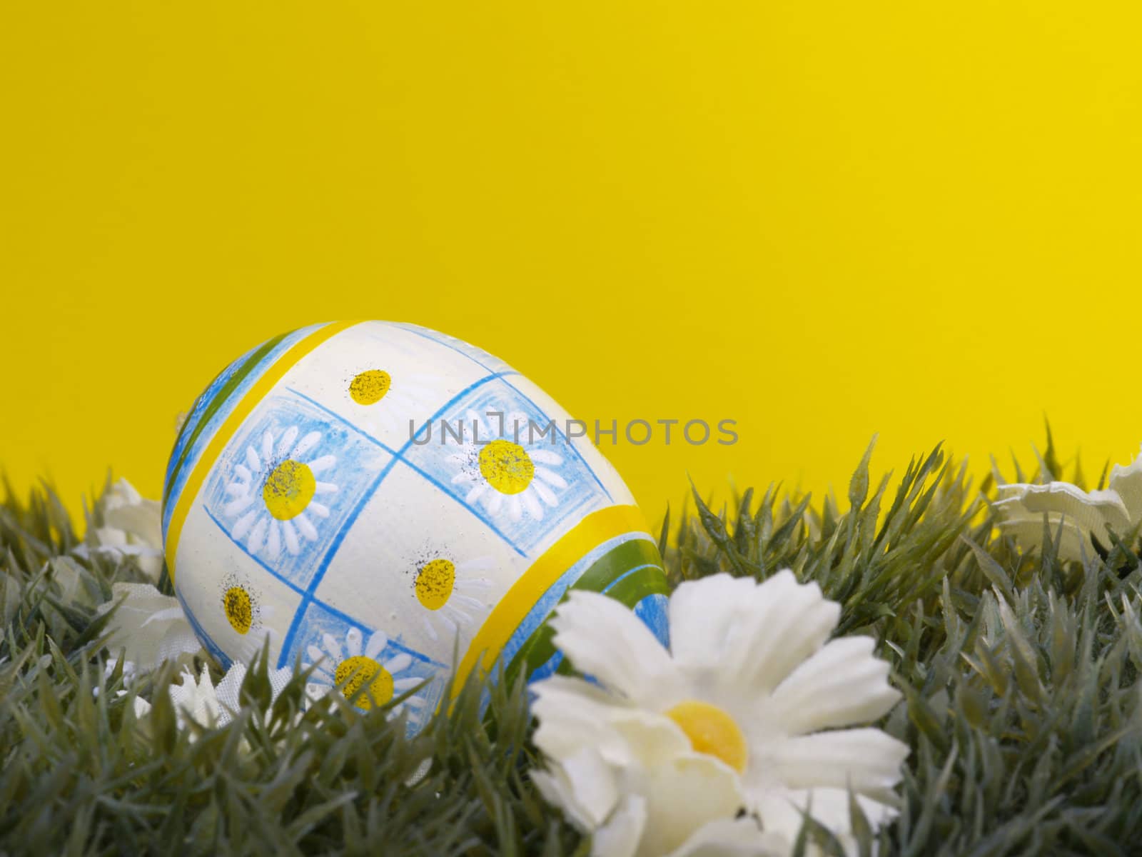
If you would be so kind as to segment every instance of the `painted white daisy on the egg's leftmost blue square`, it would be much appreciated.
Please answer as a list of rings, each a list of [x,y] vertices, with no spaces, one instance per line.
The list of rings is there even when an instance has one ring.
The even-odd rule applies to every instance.
[[[266,431],[260,449],[252,444],[246,448],[244,462],[234,465],[234,479],[226,486],[231,499],[223,511],[236,519],[230,535],[244,542],[254,555],[275,560],[283,547],[297,555],[303,539],[317,538],[314,520],[329,516],[329,506],[316,498],[336,494],[337,486],[319,481],[317,474],[337,464],[337,457],[305,460],[321,443],[321,432],[309,432],[300,440],[298,434],[296,425],[278,439]]]

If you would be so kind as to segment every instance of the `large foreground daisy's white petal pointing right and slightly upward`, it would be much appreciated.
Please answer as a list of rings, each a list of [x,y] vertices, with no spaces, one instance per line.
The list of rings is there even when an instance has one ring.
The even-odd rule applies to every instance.
[[[872,656],[875,641],[850,636],[828,642],[773,691],[773,716],[789,735],[876,720],[896,704],[888,664]]]

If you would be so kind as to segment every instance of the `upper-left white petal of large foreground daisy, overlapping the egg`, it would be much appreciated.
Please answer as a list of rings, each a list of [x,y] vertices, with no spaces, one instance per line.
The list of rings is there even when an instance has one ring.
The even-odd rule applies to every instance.
[[[650,628],[606,595],[570,592],[550,625],[555,644],[577,670],[628,699],[646,704],[657,698],[656,686],[677,679],[669,655]]]

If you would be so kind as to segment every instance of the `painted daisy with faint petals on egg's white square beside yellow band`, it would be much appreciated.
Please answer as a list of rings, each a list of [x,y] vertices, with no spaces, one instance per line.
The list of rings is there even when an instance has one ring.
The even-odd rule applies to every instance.
[[[458,632],[471,638],[484,624],[489,608],[481,596],[492,584],[483,572],[493,567],[488,556],[453,562],[441,555],[417,564],[412,592],[429,638],[451,640]]]

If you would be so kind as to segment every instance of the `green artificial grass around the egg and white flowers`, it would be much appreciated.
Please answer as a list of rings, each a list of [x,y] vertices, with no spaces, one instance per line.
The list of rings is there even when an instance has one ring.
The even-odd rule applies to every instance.
[[[1018,466],[1018,465],[1016,465]],[[1103,474],[1104,475],[1104,474]],[[1061,478],[1049,443],[1030,473]],[[1081,482],[1081,475],[1070,476]],[[843,606],[838,633],[866,633],[904,699],[883,728],[911,755],[899,820],[863,836],[880,855],[1142,854],[1142,562],[1136,534],[1085,566],[1047,535],[1027,555],[996,535],[987,495],[939,450],[894,496],[869,490],[869,455],[847,511],[772,487],[716,514],[670,515],[671,584],[716,571],[793,568]],[[75,556],[48,489],[0,506],[0,855],[586,855],[528,779],[526,692],[469,683],[419,736],[339,695],[301,706],[295,679],[270,710],[263,662],[249,708],[212,730],[179,730],[168,666],[118,697],[104,680],[105,620],[131,560]],[[98,524],[98,505],[89,527]],[[1057,544],[1057,540],[1055,540]],[[220,674],[216,671],[216,680]],[[98,696],[93,688],[100,688]],[[131,695],[154,702],[136,727]],[[243,746],[242,738],[246,739]],[[424,760],[427,776],[405,785]],[[834,844],[806,830],[828,851]],[[803,843],[806,840],[803,840]]]

